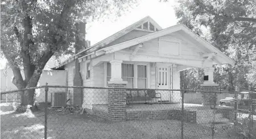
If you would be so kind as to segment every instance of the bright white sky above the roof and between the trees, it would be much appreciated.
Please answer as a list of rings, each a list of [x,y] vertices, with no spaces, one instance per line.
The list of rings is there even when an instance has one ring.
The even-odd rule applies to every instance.
[[[170,2],[159,2],[159,0],[141,0],[137,7],[131,8],[120,17],[110,16],[104,21],[93,21],[86,24],[86,40],[91,42],[91,45],[104,40],[106,37],[120,31],[123,28],[141,20],[145,16],[150,16],[162,28],[171,27],[177,24],[174,5],[176,0]],[[61,59],[61,61],[64,58]],[[6,60],[0,62],[0,69],[5,67]],[[46,68],[56,66],[56,62],[49,60]]]

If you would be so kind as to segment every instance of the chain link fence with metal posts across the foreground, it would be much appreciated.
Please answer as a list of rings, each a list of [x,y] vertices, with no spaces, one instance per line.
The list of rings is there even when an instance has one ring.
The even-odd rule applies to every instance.
[[[35,108],[10,97],[26,90]],[[249,91],[39,86],[1,95],[13,99],[1,102],[3,138],[255,138]]]

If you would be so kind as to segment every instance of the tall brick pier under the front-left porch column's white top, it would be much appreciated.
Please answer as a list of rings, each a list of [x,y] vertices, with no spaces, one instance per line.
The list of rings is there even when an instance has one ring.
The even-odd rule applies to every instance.
[[[125,121],[126,120],[126,84],[112,84],[109,83],[108,90],[108,118],[111,121]]]

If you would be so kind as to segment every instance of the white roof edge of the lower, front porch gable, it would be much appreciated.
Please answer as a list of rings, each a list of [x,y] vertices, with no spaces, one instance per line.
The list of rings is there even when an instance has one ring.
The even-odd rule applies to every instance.
[[[174,32],[180,31],[180,30],[189,34],[189,36],[195,38],[195,40],[197,40],[202,46],[207,47],[207,49],[209,49],[210,51],[212,51],[214,53],[217,53],[218,56],[220,56],[221,58],[224,58],[226,62],[228,62],[229,64],[232,64],[232,66],[234,66],[234,61],[231,58],[226,56],[224,53],[222,53],[222,51],[218,50],[216,47],[211,45],[209,42],[205,41],[202,37],[198,36],[195,32],[191,31],[191,29],[189,29],[184,24],[174,25],[172,27],[162,29],[161,31],[158,31],[158,32],[154,32],[154,33],[142,36],[142,37],[134,38],[133,40],[121,42],[116,45],[102,48],[100,50],[97,50],[96,52],[105,51],[106,54],[113,53],[114,51],[122,50],[127,47],[134,46],[134,45],[140,44],[142,42],[149,41],[154,38],[158,38],[158,37],[161,37],[161,36],[164,36],[164,35],[167,35],[170,33],[174,33]],[[226,63],[221,63],[221,64],[226,64]]]

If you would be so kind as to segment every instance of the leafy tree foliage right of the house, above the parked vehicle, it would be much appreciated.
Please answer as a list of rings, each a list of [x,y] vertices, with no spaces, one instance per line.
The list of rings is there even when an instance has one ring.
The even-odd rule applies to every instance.
[[[216,66],[222,89],[247,88],[255,81],[256,1],[180,0],[175,7],[179,23],[200,36],[202,26],[209,29],[207,40],[232,58],[236,65]],[[218,72],[218,73],[217,73]],[[220,81],[222,80],[222,81]]]

